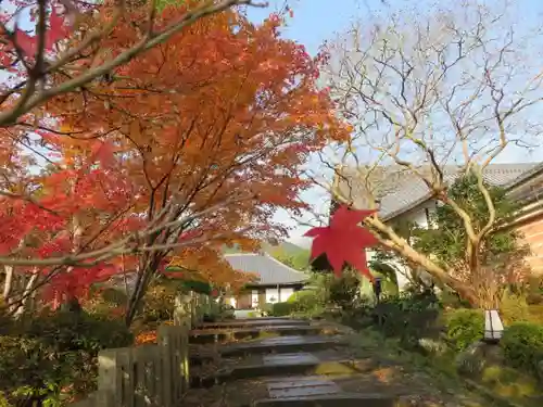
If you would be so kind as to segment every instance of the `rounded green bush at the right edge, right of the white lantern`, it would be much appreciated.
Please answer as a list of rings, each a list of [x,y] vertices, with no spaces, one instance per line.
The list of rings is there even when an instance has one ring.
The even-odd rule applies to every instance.
[[[500,341],[508,365],[538,374],[543,360],[543,326],[516,322],[507,327]]]

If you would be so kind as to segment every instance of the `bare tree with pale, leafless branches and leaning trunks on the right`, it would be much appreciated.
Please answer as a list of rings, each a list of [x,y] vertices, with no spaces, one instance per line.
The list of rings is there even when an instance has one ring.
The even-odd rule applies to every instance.
[[[504,151],[534,145],[541,136],[541,66],[526,55],[542,37],[519,33],[513,15],[507,5],[470,2],[402,9],[361,20],[323,50],[324,80],[353,132],[320,156],[336,182],[317,173],[310,178],[337,202],[380,209],[366,224],[383,246],[481,306],[487,300],[458,277],[458,265],[402,238],[389,222],[397,216],[390,208],[399,205],[393,196],[418,193],[409,190],[424,191],[413,207],[425,200],[446,206],[459,221],[466,267],[480,275],[498,219],[488,168]],[[452,181],[467,175],[476,177],[484,224],[450,193]]]

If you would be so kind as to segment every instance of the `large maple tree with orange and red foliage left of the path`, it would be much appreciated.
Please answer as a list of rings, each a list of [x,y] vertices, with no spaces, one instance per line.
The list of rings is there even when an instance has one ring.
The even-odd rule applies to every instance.
[[[111,4],[103,10],[104,20],[114,12]],[[185,12],[166,9],[156,22],[167,26]],[[140,29],[131,22],[143,10],[131,13],[103,47],[121,53],[130,47]],[[220,246],[254,247],[258,239],[283,236],[273,216],[277,207],[303,207],[298,195],[307,182],[300,170],[310,153],[348,136],[316,86],[319,61],[282,39],[281,24],[279,16],[254,25],[241,13],[216,14],[79,93],[52,99],[54,131],[37,137],[54,160],[42,174],[17,178],[33,186],[25,192],[37,216],[52,218],[36,219],[42,228],[33,220],[5,231],[0,263],[39,276],[49,284],[42,297],[55,302],[126,270],[136,276],[128,323],[171,258],[224,272],[210,276],[217,283],[236,278],[212,266]],[[93,63],[92,55],[79,61],[81,68]],[[202,254],[206,260],[195,262]]]

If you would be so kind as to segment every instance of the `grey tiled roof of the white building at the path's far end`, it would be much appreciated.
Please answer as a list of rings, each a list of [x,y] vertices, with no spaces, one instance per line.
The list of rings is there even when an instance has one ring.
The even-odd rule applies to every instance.
[[[225,259],[239,271],[254,272],[260,285],[292,284],[308,279],[306,274],[294,270],[267,254],[225,254]]]

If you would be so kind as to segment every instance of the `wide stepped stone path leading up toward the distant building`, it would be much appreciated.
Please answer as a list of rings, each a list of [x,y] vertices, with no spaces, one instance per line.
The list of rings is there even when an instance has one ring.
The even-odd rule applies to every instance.
[[[226,332],[253,333],[248,340]],[[201,342],[205,335],[214,340]],[[218,343],[228,339],[232,342]],[[324,323],[285,318],[206,323],[193,332],[192,343],[184,407],[491,406],[467,391],[439,389],[430,374],[413,376],[397,363],[353,352],[348,333]]]

